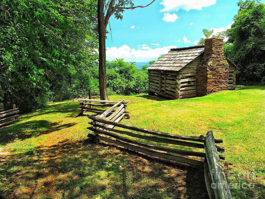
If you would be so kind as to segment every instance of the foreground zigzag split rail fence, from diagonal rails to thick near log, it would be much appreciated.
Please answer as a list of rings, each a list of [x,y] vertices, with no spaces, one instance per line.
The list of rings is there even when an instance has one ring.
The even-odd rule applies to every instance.
[[[122,103],[122,101],[117,102],[117,104],[115,104],[108,110],[112,111],[113,107],[118,106]],[[119,123],[120,119],[104,119],[104,117],[110,111],[105,111],[102,115],[97,117],[88,116],[88,118],[92,120],[92,122],[90,123],[92,124],[92,126],[88,127],[88,129],[93,131],[93,133],[89,134],[88,137],[94,139],[94,142],[102,140],[112,144],[117,144],[119,146],[131,149],[136,152],[140,152],[142,154],[176,161],[193,167],[204,168],[206,187],[209,193],[209,197],[211,199],[232,198],[220,161],[220,159],[224,160],[225,157],[218,154],[218,152],[224,152],[224,147],[216,145],[222,143],[223,140],[215,139],[213,137],[212,131],[208,131],[206,137],[203,135],[182,136],[176,134],[162,133],[159,131],[153,131],[139,128],[136,126],[121,124]],[[113,115],[115,114],[113,113]],[[145,139],[152,142],[205,149],[205,152],[181,150],[170,147],[163,147],[159,145],[147,144],[144,142],[140,142],[139,140],[130,139],[127,136]],[[196,157],[196,159],[193,159],[191,157]],[[199,160],[202,158],[204,158],[204,161]]]

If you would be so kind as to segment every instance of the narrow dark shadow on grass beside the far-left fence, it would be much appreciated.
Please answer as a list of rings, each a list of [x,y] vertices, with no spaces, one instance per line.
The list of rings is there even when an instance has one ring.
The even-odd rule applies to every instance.
[[[16,139],[24,140],[32,136],[39,136],[58,131],[62,128],[69,128],[76,123],[68,123],[59,125],[58,122],[49,122],[47,120],[33,120],[28,122],[15,123],[11,126],[1,128],[0,144],[7,144]]]

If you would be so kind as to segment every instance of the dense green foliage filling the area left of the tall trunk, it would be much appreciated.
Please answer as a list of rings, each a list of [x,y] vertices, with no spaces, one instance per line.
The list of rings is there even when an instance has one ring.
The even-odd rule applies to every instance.
[[[0,2],[0,99],[6,105],[37,108],[69,98],[74,88],[93,86],[95,5],[94,0]]]

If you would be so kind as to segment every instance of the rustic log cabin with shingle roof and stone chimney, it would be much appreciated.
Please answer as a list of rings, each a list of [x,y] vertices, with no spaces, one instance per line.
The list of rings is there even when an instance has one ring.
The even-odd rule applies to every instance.
[[[224,55],[223,39],[205,45],[174,48],[148,68],[150,95],[169,99],[192,98],[234,90],[236,65]]]

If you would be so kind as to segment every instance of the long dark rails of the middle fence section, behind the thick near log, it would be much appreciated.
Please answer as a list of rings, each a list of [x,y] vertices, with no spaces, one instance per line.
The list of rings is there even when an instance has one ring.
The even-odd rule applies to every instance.
[[[162,133],[159,131],[153,131],[153,130],[143,129],[143,128],[139,128],[135,126],[120,124],[115,121],[110,121],[108,119],[101,119],[101,118],[94,117],[94,116],[88,116],[88,117],[92,119],[91,124],[93,125],[89,127],[88,129],[96,133],[94,134],[95,139],[117,144],[119,146],[125,147],[127,149],[131,149],[133,151],[140,152],[143,154],[152,155],[155,157],[160,157],[160,158],[180,162],[183,164],[191,165],[193,167],[203,167],[203,161],[200,161],[197,159],[191,159],[189,157],[183,157],[183,156],[194,156],[194,157],[205,157],[206,158],[206,153],[173,149],[169,147],[146,144],[146,143],[136,141],[136,140],[127,138],[125,136],[120,136],[120,135],[127,135],[133,138],[140,138],[140,139],[145,139],[148,141],[153,141],[153,142],[158,142],[158,143],[167,143],[167,144],[187,146],[187,147],[193,147],[193,148],[201,148],[201,149],[204,149],[204,144],[203,144],[205,142],[204,136],[181,136],[181,135],[175,135],[175,134],[168,134],[168,133]],[[107,125],[111,126],[112,128],[109,128]],[[119,127],[119,129],[115,129],[114,127]],[[147,136],[147,135],[143,135],[140,133],[132,133],[127,130],[150,134],[152,136]],[[214,142],[222,143],[223,141],[220,139],[214,139]],[[216,147],[216,150],[219,152],[224,152],[224,147]],[[169,154],[169,153],[173,153],[173,154]],[[224,156],[221,156],[221,155],[219,155],[218,157],[221,159],[225,158]]]

